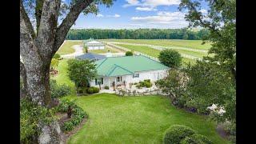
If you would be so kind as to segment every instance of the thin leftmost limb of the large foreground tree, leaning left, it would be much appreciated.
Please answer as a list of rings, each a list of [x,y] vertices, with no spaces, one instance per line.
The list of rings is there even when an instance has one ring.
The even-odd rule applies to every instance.
[[[30,22],[29,16],[26,14],[26,10],[24,9],[22,0],[20,1],[20,14],[21,14],[22,18],[24,19],[26,29],[28,30],[31,37],[34,38],[35,37],[34,29],[33,29],[33,26]]]

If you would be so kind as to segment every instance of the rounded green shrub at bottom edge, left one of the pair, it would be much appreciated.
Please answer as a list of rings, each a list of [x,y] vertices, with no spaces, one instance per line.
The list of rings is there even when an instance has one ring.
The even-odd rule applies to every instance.
[[[163,143],[179,144],[182,141],[182,139],[193,134],[195,134],[194,130],[192,130],[188,126],[173,125],[166,130],[166,134],[163,137]]]

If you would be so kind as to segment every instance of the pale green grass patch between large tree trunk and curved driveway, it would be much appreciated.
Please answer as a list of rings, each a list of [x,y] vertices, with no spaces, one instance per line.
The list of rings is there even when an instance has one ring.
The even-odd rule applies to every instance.
[[[58,49],[57,53],[61,55],[72,54],[74,53],[72,46],[81,45],[81,42],[82,41],[66,40],[66,42]]]

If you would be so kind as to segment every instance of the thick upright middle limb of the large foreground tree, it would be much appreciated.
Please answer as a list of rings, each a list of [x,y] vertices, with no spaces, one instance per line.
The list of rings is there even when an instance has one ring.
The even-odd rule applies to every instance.
[[[43,2],[40,26],[38,27],[38,37],[34,42],[43,59],[51,58],[60,4],[60,0],[45,0]]]

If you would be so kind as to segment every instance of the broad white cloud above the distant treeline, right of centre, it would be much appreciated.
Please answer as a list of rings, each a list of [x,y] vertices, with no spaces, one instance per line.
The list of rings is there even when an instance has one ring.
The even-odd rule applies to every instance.
[[[143,24],[162,24],[171,28],[181,28],[188,26],[188,22],[184,19],[185,14],[182,12],[166,12],[160,11],[157,15],[146,17],[132,17],[131,21]]]

